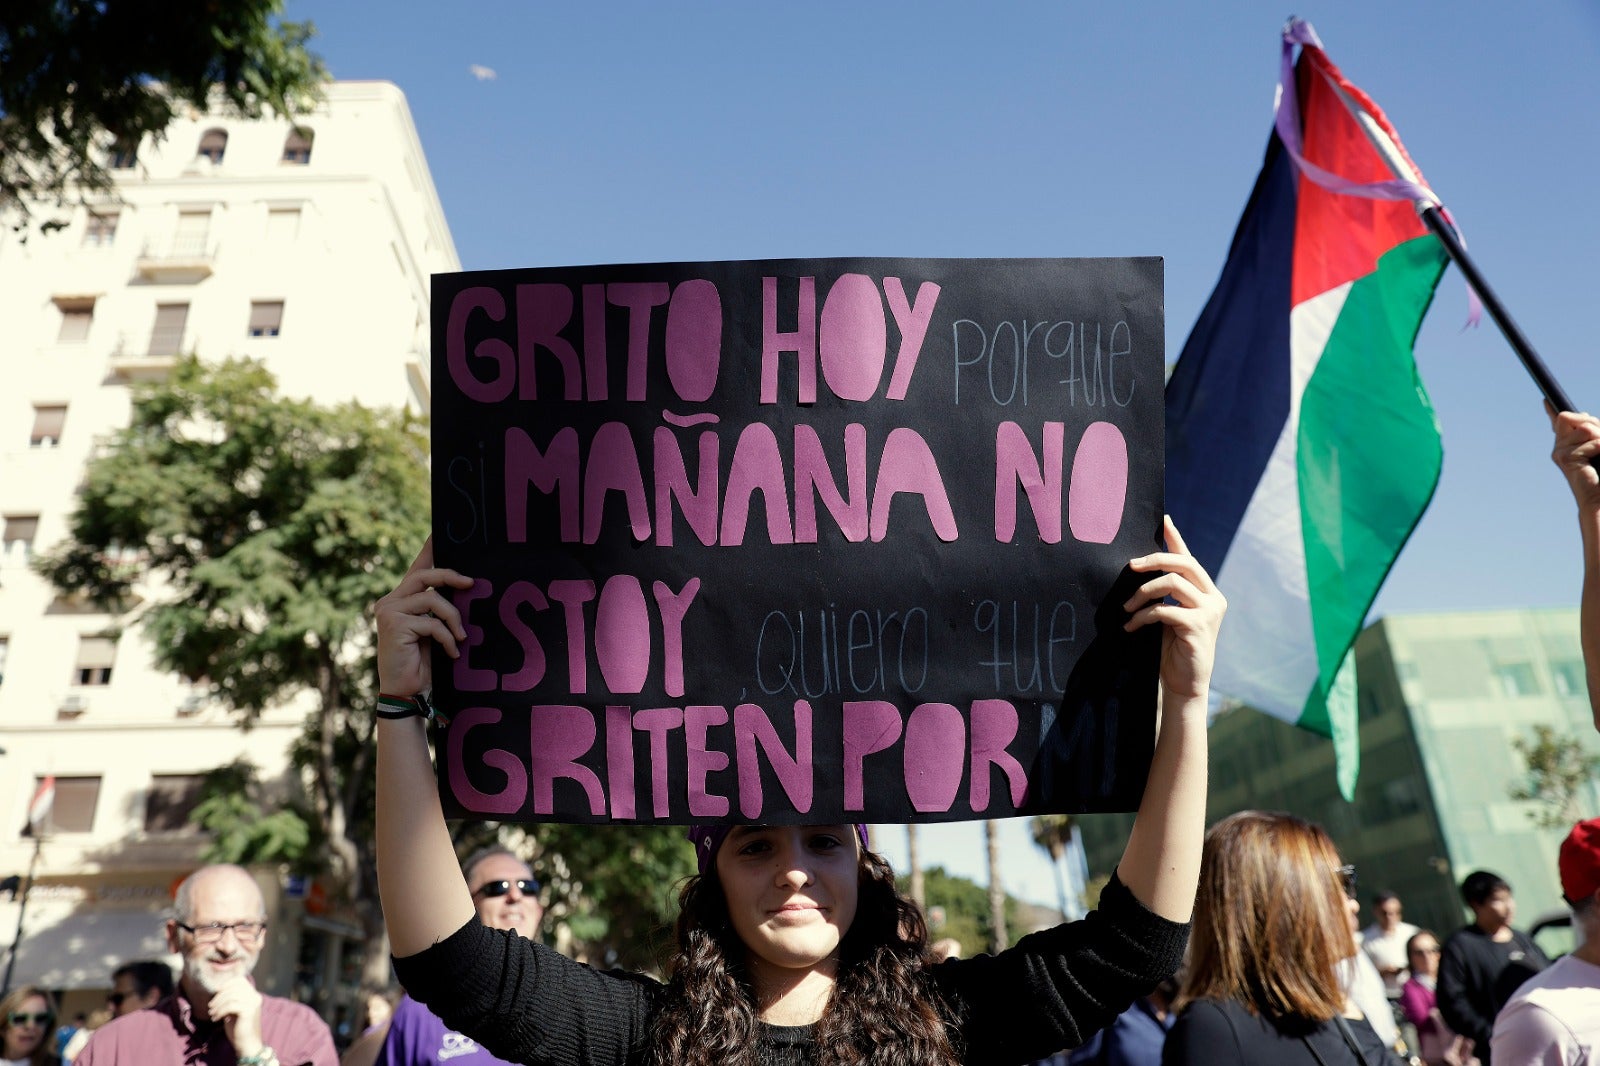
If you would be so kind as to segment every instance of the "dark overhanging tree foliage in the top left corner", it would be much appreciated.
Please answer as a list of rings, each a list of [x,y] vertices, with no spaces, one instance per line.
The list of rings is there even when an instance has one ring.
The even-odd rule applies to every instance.
[[[106,149],[162,139],[182,107],[307,107],[328,74],[306,48],[312,26],[282,11],[283,0],[0,3],[0,216],[24,230],[40,205],[107,192]]]

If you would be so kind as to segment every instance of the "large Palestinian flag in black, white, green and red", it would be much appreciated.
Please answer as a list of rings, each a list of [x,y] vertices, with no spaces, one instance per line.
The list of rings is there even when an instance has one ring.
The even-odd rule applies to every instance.
[[[1166,507],[1229,600],[1213,688],[1334,738],[1349,797],[1350,645],[1438,482],[1411,347],[1446,256],[1413,206],[1432,194],[1392,181],[1341,94],[1400,146],[1291,24],[1283,114],[1166,387]]]

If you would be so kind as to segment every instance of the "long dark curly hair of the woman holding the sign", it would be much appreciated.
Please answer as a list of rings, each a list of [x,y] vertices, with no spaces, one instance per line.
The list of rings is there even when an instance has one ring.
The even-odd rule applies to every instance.
[[[654,1021],[656,1066],[757,1066],[755,991],[715,872],[680,895],[678,952]],[[957,1018],[930,967],[928,927],[894,890],[880,855],[862,852],[856,919],[838,946],[838,978],[816,1028],[818,1066],[954,1066]]]

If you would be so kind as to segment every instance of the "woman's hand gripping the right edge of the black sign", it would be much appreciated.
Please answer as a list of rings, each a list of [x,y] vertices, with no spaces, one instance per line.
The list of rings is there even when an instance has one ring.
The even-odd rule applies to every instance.
[[[1131,615],[1130,632],[1162,623],[1162,688],[1168,699],[1205,698],[1211,688],[1216,637],[1222,627],[1227,600],[1218,591],[1178,535],[1171,517],[1163,523],[1165,552],[1152,552],[1128,563],[1134,571],[1158,571],[1123,603]],[[1171,603],[1166,599],[1171,597]]]

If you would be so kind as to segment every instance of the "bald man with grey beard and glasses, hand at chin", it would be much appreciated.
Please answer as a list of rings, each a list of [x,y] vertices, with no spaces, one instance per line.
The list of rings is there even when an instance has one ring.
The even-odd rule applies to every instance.
[[[203,866],[178,887],[166,944],[178,988],[150,1010],[114,1018],[77,1066],[338,1066],[333,1034],[310,1007],[256,991],[267,908],[250,871]]]

